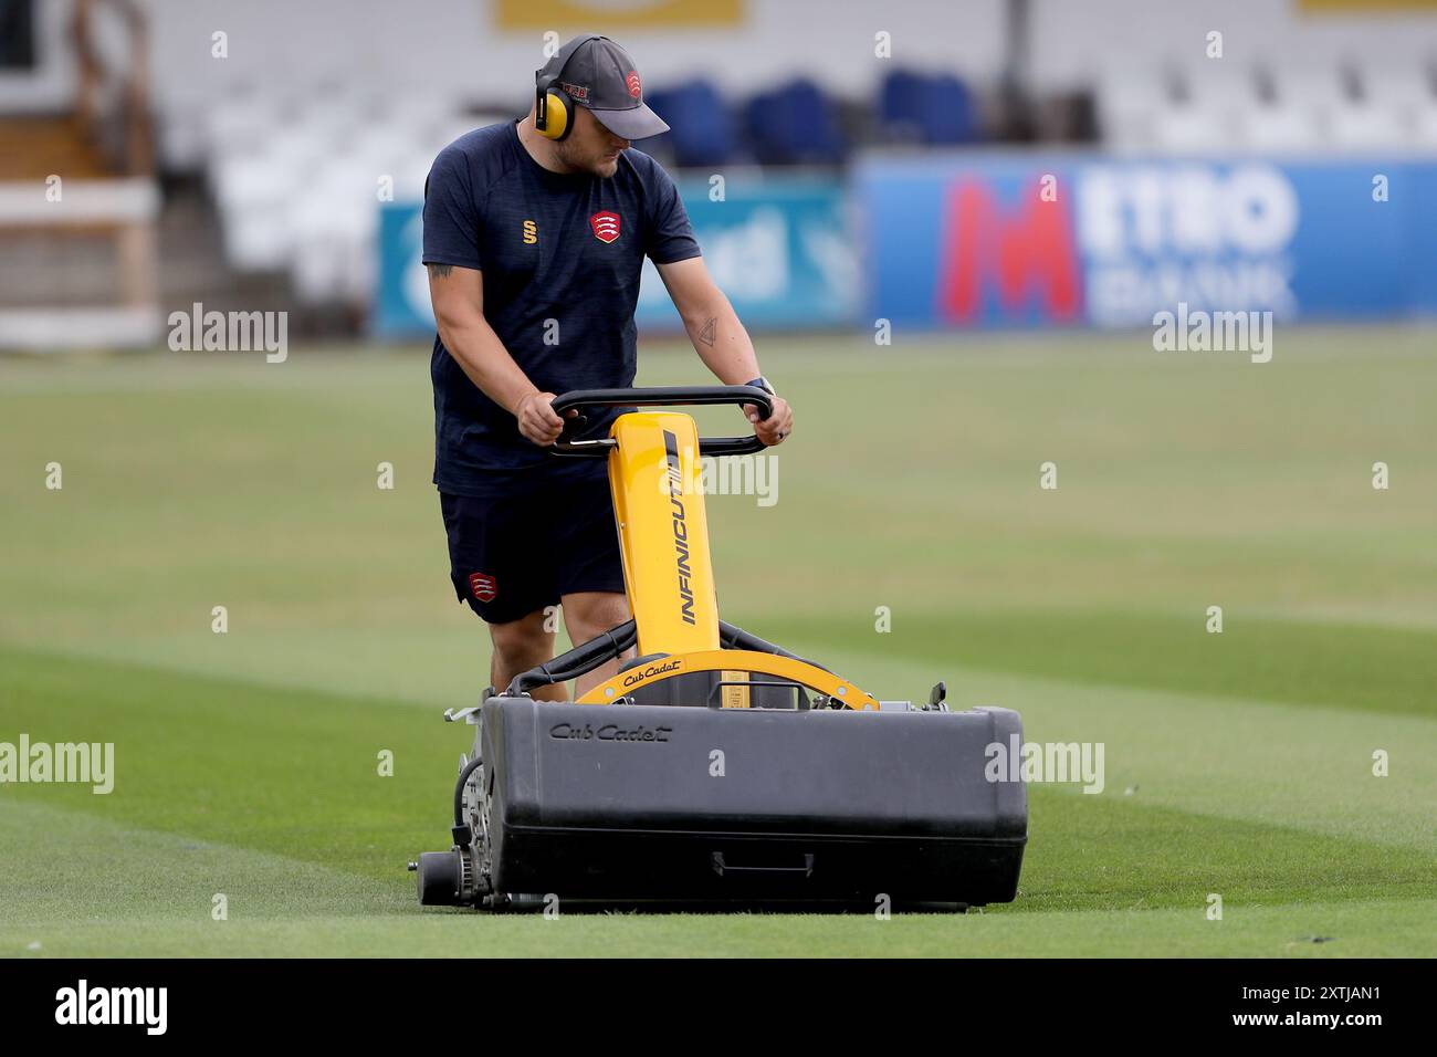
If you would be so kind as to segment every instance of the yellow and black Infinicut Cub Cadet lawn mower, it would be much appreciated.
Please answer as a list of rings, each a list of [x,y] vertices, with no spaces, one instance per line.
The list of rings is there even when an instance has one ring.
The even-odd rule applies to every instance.
[[[1027,840],[1022,781],[987,774],[1017,745],[1009,709],[879,700],[718,618],[693,417],[772,411],[747,385],[583,390],[555,457],[606,459],[631,620],[520,673],[480,705],[454,788],[453,847],[410,863],[420,903],[953,909],[1010,902]],[[624,408],[606,437],[586,408]],[[536,687],[635,656],[575,702]]]

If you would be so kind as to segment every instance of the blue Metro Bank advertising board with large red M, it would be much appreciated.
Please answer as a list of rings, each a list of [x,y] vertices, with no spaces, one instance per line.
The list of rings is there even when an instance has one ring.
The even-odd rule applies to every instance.
[[[868,309],[895,326],[1437,311],[1437,163],[948,155],[864,163],[854,191]]]

